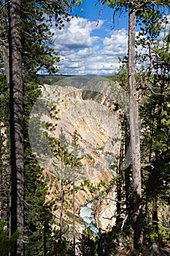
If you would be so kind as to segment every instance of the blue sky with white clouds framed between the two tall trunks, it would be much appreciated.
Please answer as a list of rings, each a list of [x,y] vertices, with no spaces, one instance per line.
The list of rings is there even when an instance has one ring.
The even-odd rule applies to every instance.
[[[58,51],[62,75],[112,75],[119,67],[118,58],[128,51],[128,17],[117,14],[98,0],[83,0],[75,7],[73,18],[61,31],[53,28],[54,47]],[[83,12],[81,12],[83,9]]]

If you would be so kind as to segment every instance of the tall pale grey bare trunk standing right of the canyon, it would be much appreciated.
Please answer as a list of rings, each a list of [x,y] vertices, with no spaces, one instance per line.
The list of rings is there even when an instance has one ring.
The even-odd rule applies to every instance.
[[[131,135],[131,157],[134,187],[134,249],[142,251],[142,178],[140,165],[139,116],[136,101],[135,80],[135,35],[136,10],[134,1],[129,4],[128,14],[128,88],[129,88],[129,124]]]

